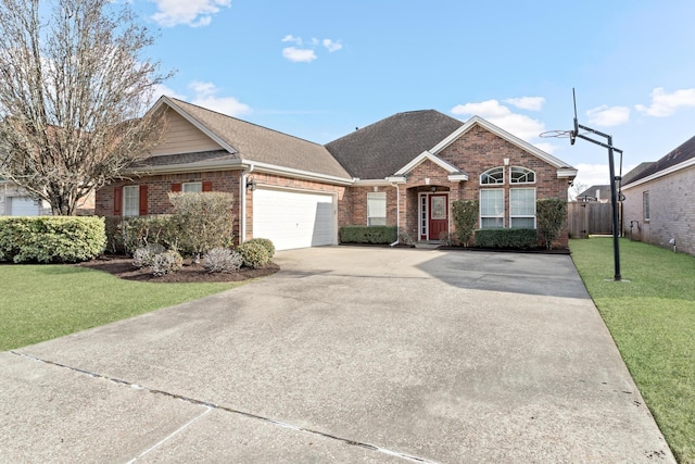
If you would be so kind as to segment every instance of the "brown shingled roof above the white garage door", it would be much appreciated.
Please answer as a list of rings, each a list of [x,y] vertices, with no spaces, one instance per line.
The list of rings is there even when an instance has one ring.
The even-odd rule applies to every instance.
[[[146,160],[147,166],[176,163],[256,164],[269,171],[313,173],[351,179],[325,147],[267,127],[258,126],[185,101],[162,97],[155,108],[168,105],[222,147],[216,153],[156,155]],[[172,156],[168,161],[160,158]]]

